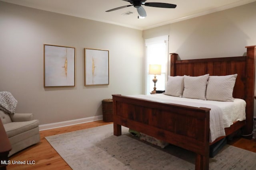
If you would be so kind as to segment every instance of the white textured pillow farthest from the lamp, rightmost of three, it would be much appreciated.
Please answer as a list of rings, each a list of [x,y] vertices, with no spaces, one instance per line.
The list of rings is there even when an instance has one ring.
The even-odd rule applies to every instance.
[[[206,89],[206,100],[233,102],[233,89],[237,74],[210,76]]]

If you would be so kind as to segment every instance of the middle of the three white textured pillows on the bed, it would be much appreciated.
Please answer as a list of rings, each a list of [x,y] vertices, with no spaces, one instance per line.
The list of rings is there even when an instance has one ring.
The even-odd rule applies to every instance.
[[[205,100],[206,84],[209,74],[203,76],[186,76],[184,75],[184,92],[183,98]]]

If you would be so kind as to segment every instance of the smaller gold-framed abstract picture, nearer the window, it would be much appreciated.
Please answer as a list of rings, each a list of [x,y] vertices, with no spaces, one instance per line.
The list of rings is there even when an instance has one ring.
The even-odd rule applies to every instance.
[[[84,48],[84,86],[109,84],[109,51]]]

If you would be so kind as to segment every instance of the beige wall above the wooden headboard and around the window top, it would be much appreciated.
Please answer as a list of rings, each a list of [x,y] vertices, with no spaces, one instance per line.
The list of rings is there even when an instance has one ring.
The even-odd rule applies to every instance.
[[[243,56],[246,46],[256,45],[255,9],[253,2],[144,30],[143,37],[170,35],[169,53],[178,53],[181,59]]]

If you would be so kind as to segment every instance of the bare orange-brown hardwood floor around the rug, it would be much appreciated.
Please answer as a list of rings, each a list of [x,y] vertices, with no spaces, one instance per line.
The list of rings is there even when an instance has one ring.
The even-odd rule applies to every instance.
[[[72,170],[44,137],[107,125],[110,123],[106,123],[104,121],[94,121],[79,125],[40,131],[40,143],[28,147],[27,149],[24,149],[9,158],[10,161],[25,160],[30,161],[31,164],[9,164],[7,166],[7,170]],[[228,142],[228,144],[256,152],[256,139],[249,140],[244,138],[236,138],[231,142]],[[33,161],[35,162],[34,164],[32,164]]]

